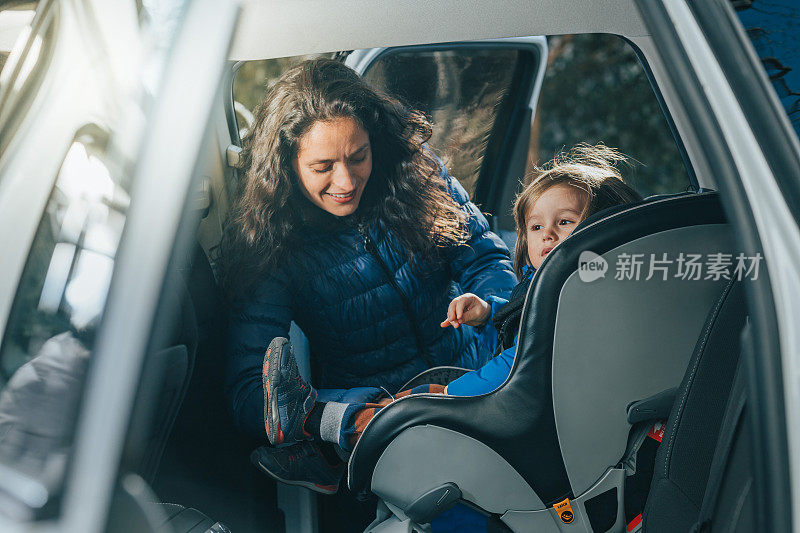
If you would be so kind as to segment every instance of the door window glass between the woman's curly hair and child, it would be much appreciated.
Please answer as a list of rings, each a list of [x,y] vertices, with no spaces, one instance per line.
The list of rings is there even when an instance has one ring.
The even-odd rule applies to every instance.
[[[473,196],[520,55],[503,48],[392,52],[375,60],[364,78],[431,119],[431,148]]]

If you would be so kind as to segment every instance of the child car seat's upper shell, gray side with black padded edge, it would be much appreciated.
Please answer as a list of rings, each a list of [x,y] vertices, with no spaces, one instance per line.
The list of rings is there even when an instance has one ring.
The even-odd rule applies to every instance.
[[[681,249],[682,242],[697,249]],[[353,451],[350,487],[374,486],[375,465],[388,445],[408,428],[431,425],[488,446],[548,507],[579,495],[624,453],[627,403],[678,384],[708,309],[726,283],[680,285],[644,276],[641,287],[613,279],[583,282],[576,277],[582,253],[591,251],[607,262],[615,253],[656,253],[662,247],[669,253],[732,253],[731,242],[713,193],[645,201],[578,228],[536,274],[507,381],[482,396],[412,396],[381,410]],[[613,274],[612,263],[607,275]],[[582,300],[584,292],[591,296]],[[585,306],[586,301],[592,304]],[[581,313],[583,307],[588,309]],[[592,422],[582,411],[598,419],[599,434],[574,429]],[[599,445],[605,439],[609,446],[621,443],[614,458],[608,446]]]

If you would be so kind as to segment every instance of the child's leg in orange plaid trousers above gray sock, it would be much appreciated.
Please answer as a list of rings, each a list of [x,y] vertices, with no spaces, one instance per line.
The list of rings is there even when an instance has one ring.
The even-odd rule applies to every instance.
[[[411,394],[444,394],[444,385],[420,385],[398,393],[394,399]],[[369,421],[392,401],[386,398],[377,403],[316,402],[305,429],[316,438],[352,451]]]

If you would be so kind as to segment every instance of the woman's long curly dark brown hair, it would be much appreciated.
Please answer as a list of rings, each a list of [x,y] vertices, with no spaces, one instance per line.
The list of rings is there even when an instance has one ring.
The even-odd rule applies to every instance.
[[[440,261],[443,248],[466,242],[465,216],[425,145],[432,131],[427,118],[341,62],[312,59],[275,82],[244,140],[244,179],[215,253],[229,300],[278,264],[308,222],[304,213],[322,211],[303,196],[292,161],[315,122],[338,118],[364,128],[373,154],[372,174],[352,217],[385,224],[412,264]]]

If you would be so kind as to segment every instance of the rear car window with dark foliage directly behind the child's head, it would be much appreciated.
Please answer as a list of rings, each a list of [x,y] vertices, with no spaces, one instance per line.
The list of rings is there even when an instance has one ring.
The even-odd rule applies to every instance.
[[[623,176],[642,196],[686,190],[689,174],[633,48],[606,34],[551,36],[548,46],[529,169],[564,147],[602,142],[638,161]]]

